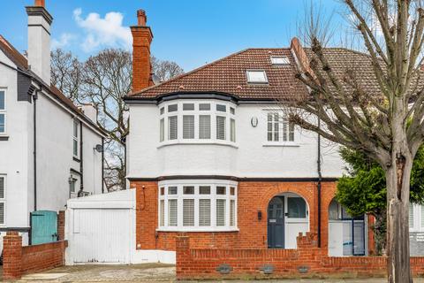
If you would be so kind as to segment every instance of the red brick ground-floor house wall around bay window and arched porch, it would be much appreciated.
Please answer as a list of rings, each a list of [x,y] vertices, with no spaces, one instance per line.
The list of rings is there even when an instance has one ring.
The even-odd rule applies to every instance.
[[[137,249],[175,250],[180,233],[157,232],[157,182],[133,181],[136,187]],[[143,188],[144,187],[144,188]],[[273,196],[292,192],[303,196],[309,206],[310,232],[317,233],[317,184],[315,182],[240,181],[238,187],[239,232],[185,233],[195,249],[265,249],[268,247],[267,210]],[[334,198],[336,182],[322,182],[322,247],[328,246],[328,209]],[[258,219],[258,210],[262,219]]]

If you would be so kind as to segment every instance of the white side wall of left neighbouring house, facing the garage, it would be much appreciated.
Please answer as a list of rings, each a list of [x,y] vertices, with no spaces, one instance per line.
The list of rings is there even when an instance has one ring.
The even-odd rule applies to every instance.
[[[73,117],[42,94],[37,100],[37,209],[64,210],[69,199],[70,169],[79,172],[73,160]],[[79,137],[80,138],[80,137]],[[83,126],[84,191],[102,192],[102,154],[95,151],[102,144],[100,135]],[[79,187],[75,188],[77,191]]]

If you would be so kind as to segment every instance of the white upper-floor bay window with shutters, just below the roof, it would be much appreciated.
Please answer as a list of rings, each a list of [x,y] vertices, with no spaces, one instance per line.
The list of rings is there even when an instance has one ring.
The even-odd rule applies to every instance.
[[[170,102],[159,110],[159,141],[236,142],[236,109],[219,101]]]

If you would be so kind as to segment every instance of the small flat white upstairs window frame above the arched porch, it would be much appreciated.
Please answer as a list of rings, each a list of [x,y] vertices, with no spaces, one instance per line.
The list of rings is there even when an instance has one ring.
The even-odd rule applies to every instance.
[[[278,140],[275,140],[275,120],[272,120],[272,141],[268,140],[268,116],[269,114],[278,114]],[[264,116],[265,116],[265,142],[263,142],[263,146],[286,146],[286,147],[299,147],[299,134],[296,130],[296,125],[290,123],[287,119],[284,117],[283,111],[281,109],[265,109],[264,110]],[[291,125],[293,130],[291,131]],[[285,133],[284,133],[285,132]],[[284,134],[286,136],[286,141],[284,141]],[[290,135],[293,135],[293,140],[290,141]]]

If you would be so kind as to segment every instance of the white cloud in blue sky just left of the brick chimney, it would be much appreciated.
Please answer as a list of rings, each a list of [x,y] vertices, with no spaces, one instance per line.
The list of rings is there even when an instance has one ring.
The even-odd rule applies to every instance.
[[[90,12],[85,19],[81,14],[80,8],[73,11],[73,19],[86,33],[86,39],[81,43],[84,51],[91,52],[100,47],[131,48],[133,37],[130,28],[122,25],[122,13],[110,11],[102,18],[98,13]]]

